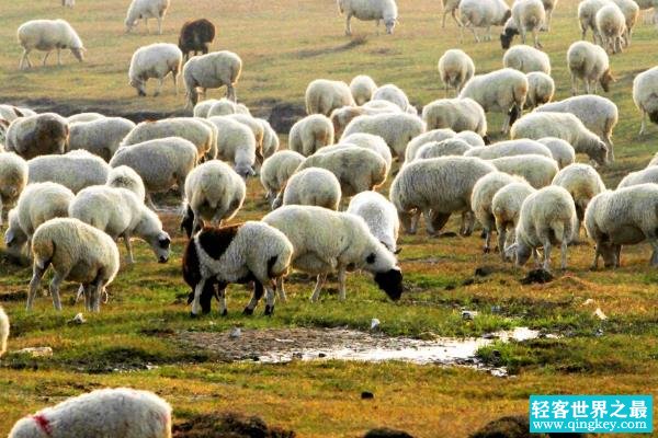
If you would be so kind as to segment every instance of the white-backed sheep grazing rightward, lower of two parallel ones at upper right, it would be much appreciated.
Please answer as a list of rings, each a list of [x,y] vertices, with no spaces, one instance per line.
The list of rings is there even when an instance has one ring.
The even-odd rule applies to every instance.
[[[608,163],[609,149],[605,142],[570,113],[530,113],[512,126],[511,137],[557,137],[571,145],[577,153],[586,153],[599,165]]]

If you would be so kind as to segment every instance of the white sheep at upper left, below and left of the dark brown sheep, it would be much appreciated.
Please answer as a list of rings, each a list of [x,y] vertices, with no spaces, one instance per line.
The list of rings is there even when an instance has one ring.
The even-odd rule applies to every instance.
[[[154,78],[158,88],[154,96],[160,94],[164,78],[171,73],[173,90],[178,95],[178,76],[183,65],[183,53],[175,44],[156,43],[139,47],[133,54],[128,69],[128,83],[137,90],[138,96],[146,96],[146,82]]]

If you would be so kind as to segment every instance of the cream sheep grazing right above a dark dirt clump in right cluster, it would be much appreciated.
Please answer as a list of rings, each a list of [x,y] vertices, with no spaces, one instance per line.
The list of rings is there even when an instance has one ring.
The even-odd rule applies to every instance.
[[[577,227],[576,207],[569,192],[559,186],[544,187],[529,195],[519,214],[517,239],[506,249],[515,258],[517,266],[527,262],[532,253],[538,262],[537,247],[544,249],[543,268],[551,270],[551,251],[560,245],[560,267],[567,268],[567,247]]]

